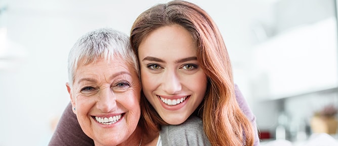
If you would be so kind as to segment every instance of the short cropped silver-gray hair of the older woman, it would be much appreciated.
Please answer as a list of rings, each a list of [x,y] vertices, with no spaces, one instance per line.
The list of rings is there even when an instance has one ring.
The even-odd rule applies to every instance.
[[[113,29],[101,28],[83,35],[70,50],[68,56],[69,86],[73,85],[79,63],[87,65],[99,58],[113,59],[114,55],[133,65],[140,77],[137,56],[130,45],[129,37]]]

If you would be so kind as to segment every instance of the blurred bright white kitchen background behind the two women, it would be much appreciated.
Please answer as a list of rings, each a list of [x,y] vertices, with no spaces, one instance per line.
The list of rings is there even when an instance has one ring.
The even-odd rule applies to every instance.
[[[47,145],[70,101],[67,57],[75,41],[102,27],[129,34],[140,13],[165,2],[0,0],[0,145]],[[261,139],[336,138],[335,0],[190,2],[222,32]],[[333,126],[316,118],[323,116]]]

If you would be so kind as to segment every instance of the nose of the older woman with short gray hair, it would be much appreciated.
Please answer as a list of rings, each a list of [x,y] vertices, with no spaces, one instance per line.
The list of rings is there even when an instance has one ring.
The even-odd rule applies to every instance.
[[[116,95],[110,88],[101,90],[99,96],[97,108],[101,112],[111,112],[116,107]]]

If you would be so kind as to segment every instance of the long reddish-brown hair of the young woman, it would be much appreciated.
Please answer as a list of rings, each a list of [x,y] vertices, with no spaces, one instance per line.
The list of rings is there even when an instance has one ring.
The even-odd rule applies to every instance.
[[[188,30],[197,45],[197,59],[208,77],[207,92],[196,109],[212,145],[253,145],[254,129],[240,110],[234,93],[232,67],[222,35],[210,16],[195,4],[172,1],[143,12],[134,22],[131,43],[138,53],[140,43],[153,30],[170,25]],[[164,37],[164,36],[163,36]],[[144,97],[143,117],[148,128],[156,130],[167,124]]]

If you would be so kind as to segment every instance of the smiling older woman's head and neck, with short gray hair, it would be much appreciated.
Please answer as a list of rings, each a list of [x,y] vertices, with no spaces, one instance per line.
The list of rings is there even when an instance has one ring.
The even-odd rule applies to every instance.
[[[73,112],[95,145],[157,140],[158,133],[149,135],[142,129],[146,123],[139,123],[141,83],[136,62],[129,37],[111,29],[87,33],[69,53],[66,86]]]

